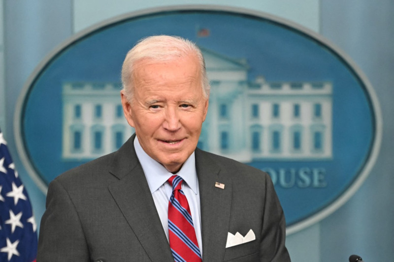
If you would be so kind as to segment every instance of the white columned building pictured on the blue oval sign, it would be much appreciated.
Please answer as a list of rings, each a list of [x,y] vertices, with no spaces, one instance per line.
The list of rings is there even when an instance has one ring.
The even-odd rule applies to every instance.
[[[201,49],[211,81],[198,147],[241,162],[332,158],[329,82],[248,80],[246,59]],[[133,133],[123,116],[120,84],[63,85],[63,159],[92,159]]]

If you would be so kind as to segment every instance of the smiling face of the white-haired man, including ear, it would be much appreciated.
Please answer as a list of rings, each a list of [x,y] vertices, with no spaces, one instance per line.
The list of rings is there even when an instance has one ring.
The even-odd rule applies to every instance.
[[[196,149],[208,110],[197,57],[137,61],[134,92],[122,105],[144,151],[169,172],[179,171]]]

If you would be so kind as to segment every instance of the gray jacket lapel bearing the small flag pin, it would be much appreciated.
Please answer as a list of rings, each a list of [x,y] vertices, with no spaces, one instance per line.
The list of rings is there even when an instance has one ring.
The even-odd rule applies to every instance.
[[[223,261],[230,224],[231,179],[207,153],[196,149],[201,206],[202,260]],[[215,187],[225,184],[225,189]]]

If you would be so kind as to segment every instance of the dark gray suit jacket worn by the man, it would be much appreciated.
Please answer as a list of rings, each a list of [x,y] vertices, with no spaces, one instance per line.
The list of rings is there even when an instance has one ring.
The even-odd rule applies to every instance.
[[[118,151],[50,183],[37,262],[174,261],[134,136]],[[290,261],[285,218],[267,174],[199,149],[196,169],[204,262]],[[228,232],[245,235],[250,229],[256,240],[225,248]]]

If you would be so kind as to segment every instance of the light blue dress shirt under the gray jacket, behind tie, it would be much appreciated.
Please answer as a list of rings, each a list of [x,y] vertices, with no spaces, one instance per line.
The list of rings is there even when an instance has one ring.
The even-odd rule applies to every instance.
[[[168,240],[168,202],[172,194],[172,187],[167,180],[173,174],[166,170],[162,164],[151,158],[142,149],[137,137],[134,139],[134,148],[142,169],[144,170],[149,189],[152,193],[153,201],[155,202],[157,212],[163,225],[164,233]],[[182,182],[182,190],[189,202],[198,247],[202,255],[200,197],[194,152],[186,160],[181,170],[179,170],[176,175],[179,175],[184,180]]]

